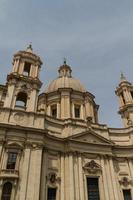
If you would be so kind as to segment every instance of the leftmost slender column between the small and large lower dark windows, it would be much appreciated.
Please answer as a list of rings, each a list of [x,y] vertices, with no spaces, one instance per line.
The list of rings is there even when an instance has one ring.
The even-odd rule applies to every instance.
[[[64,200],[65,199],[65,184],[64,184],[64,178],[65,178],[65,173],[64,173],[64,167],[65,167],[65,159],[64,159],[64,153],[61,153],[61,167],[60,167],[60,173],[61,173],[61,190],[60,190],[60,199]]]

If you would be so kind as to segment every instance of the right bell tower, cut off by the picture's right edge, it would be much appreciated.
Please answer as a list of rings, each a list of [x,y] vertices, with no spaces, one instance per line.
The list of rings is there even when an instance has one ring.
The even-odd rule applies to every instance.
[[[119,114],[125,127],[133,125],[133,85],[121,73],[120,83],[115,91],[119,98]]]

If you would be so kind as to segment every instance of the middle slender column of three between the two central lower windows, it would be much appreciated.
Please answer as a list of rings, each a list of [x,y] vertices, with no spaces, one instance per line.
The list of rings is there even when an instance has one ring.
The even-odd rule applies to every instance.
[[[74,173],[73,173],[73,155],[69,153],[69,192],[70,200],[74,200]]]

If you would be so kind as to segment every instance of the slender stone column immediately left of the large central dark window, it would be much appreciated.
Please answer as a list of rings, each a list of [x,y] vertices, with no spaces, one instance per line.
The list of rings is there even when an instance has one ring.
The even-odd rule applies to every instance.
[[[82,158],[81,155],[78,157],[79,166],[79,188],[80,188],[80,200],[84,200],[84,182],[83,182],[83,169],[82,169]]]

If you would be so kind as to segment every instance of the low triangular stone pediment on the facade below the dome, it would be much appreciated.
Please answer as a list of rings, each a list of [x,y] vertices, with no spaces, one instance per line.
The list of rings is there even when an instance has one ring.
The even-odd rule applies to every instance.
[[[92,130],[78,133],[70,137],[71,140],[79,141],[79,142],[86,142],[86,143],[93,143],[93,144],[106,144],[112,145],[113,142],[106,139],[105,137],[95,133]]]

